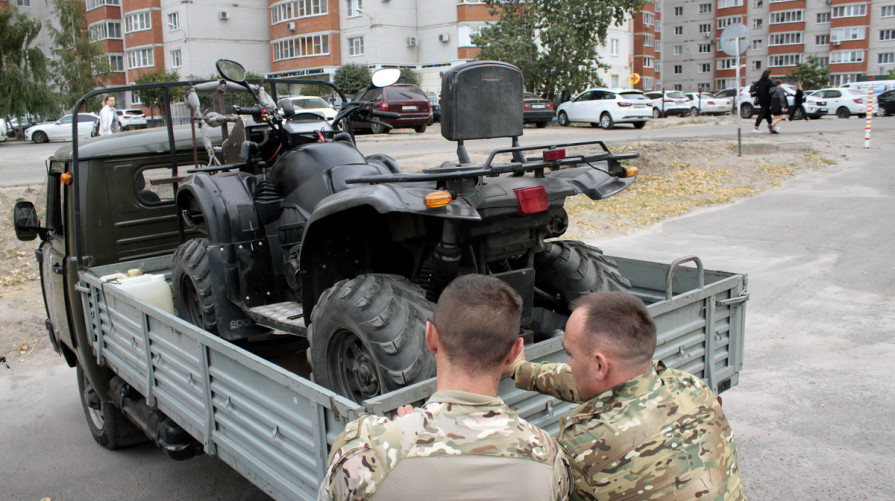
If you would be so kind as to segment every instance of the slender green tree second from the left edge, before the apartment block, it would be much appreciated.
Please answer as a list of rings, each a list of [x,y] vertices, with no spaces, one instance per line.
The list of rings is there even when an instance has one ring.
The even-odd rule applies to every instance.
[[[69,109],[81,96],[102,87],[109,78],[111,68],[102,46],[90,41],[84,2],[53,0],[53,7],[59,20],[59,29],[50,27],[55,46],[53,53],[56,55],[53,68],[62,105]],[[87,111],[100,108],[100,96],[85,105]]]

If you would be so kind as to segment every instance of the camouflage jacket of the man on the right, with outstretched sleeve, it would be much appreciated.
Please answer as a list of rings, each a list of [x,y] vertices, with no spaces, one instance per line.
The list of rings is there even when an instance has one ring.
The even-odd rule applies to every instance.
[[[580,402],[568,364],[523,363],[516,386]],[[658,362],[560,420],[572,499],[743,500],[733,432],[698,377]]]

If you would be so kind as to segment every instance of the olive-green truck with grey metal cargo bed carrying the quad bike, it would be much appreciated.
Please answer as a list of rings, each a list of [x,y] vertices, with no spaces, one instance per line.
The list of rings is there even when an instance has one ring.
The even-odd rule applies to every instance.
[[[443,111],[443,124],[448,126],[457,120],[450,108]],[[215,129],[209,135],[206,131],[208,142],[221,145],[223,132]],[[227,132],[233,137],[234,132],[239,136],[244,131],[237,125]],[[346,422],[364,413],[388,414],[401,405],[420,403],[434,392],[435,381],[410,381],[397,389],[384,388],[380,394],[352,393],[350,384],[347,392],[338,385],[339,391],[334,391],[315,382],[314,372],[321,369],[307,364],[313,340],[309,343],[301,332],[270,329],[228,340],[196,325],[196,310],[190,308],[199,305],[199,298],[193,297],[192,304],[183,298],[174,300],[175,251],[201,239],[203,232],[201,226],[185,224],[189,207],[178,205],[178,188],[196,173],[217,176],[228,169],[226,165],[204,168],[209,155],[218,150],[200,152],[196,137],[190,126],[169,124],[80,143],[75,140],[49,159],[42,214],[27,201],[19,202],[14,211],[18,237],[39,237],[36,255],[48,335],[55,351],[76,368],[88,428],[100,445],[117,449],[149,439],[178,460],[214,455],[274,498],[314,499],[330,445]],[[557,150],[555,145],[542,149]],[[548,163],[564,162],[555,160],[555,155],[551,158]],[[603,169],[599,172],[613,176],[613,157],[608,151],[584,158],[602,162],[597,165]],[[546,161],[517,155],[509,167],[493,175],[482,165],[461,162],[451,176],[477,179],[472,186],[478,192],[489,183],[499,186],[508,179],[519,183],[533,177],[530,182],[554,184],[582,179],[574,177],[579,175],[574,169],[580,167],[555,163],[551,165],[559,167],[545,169]],[[444,174],[439,171],[436,176]],[[408,187],[402,187],[405,180],[395,179],[394,174],[372,176],[368,184],[389,190],[420,189],[421,178],[408,177]],[[356,188],[345,189],[332,196],[344,199],[346,192]],[[452,203],[472,203],[462,198]],[[325,201],[318,207],[325,206]],[[562,199],[558,203],[561,207]],[[475,208],[470,211],[468,220],[475,221]],[[591,249],[575,242],[553,245]],[[537,248],[541,247],[533,249]],[[581,250],[578,255],[594,252],[598,251]],[[692,256],[672,263],[602,255],[594,260],[610,263],[625,288],[647,303],[659,328],[656,358],[701,376],[716,392],[737,383],[748,299],[744,275],[705,270]],[[686,262],[695,266],[681,266]],[[583,267],[585,273],[593,271],[583,260],[575,266]],[[358,268],[357,273],[369,271],[361,270],[361,264]],[[341,270],[343,275],[349,272]],[[563,272],[560,268],[559,273]],[[511,284],[531,298],[532,284],[539,282],[520,279],[531,273],[524,266],[512,273],[508,275]],[[201,287],[194,292],[211,293]],[[543,295],[544,291],[535,292]],[[192,313],[179,311],[175,304]],[[529,319],[545,322],[543,318],[550,317],[550,325],[561,325],[561,310],[537,313],[537,304],[531,300]],[[423,332],[405,334],[422,336]],[[522,334],[531,339],[526,347],[530,359],[564,358],[561,337],[532,336],[531,330]],[[356,337],[367,339],[363,332]],[[376,356],[364,351],[364,343],[349,348],[346,353],[367,357],[364,370],[381,369]],[[502,382],[500,394],[525,419],[550,431],[556,431],[559,417],[571,408],[550,397],[518,391],[509,380]]]

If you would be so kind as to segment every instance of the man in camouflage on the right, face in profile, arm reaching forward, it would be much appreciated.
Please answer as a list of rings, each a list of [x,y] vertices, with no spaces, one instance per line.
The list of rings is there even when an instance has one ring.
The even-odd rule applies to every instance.
[[[572,499],[743,500],[736,445],[711,389],[653,362],[656,326],[643,302],[600,292],[575,303],[568,363],[521,356],[518,388],[583,402],[560,420]]]

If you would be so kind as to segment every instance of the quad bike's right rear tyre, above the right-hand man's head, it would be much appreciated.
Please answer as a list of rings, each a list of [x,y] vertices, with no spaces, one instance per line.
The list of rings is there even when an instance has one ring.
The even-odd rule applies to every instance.
[[[581,296],[600,291],[627,291],[631,282],[603,251],[575,240],[554,240],[535,257],[535,286],[555,299],[557,313],[571,313],[569,305]]]

